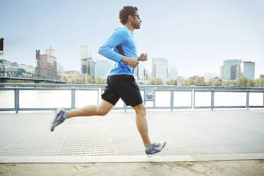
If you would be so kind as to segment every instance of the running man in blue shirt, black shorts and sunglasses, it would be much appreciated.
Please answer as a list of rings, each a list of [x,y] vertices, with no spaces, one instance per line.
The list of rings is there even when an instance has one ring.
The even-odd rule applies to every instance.
[[[53,121],[50,124],[50,131],[65,121],[75,116],[105,116],[121,98],[127,106],[132,106],[136,111],[136,126],[145,145],[145,153],[151,155],[158,153],[165,147],[166,142],[150,143],[148,137],[148,124],[146,121],[146,109],[143,104],[141,92],[133,77],[134,68],[138,61],[148,60],[148,55],[143,53],[137,56],[133,31],[141,28],[141,18],[138,15],[138,8],[124,6],[119,12],[120,22],[123,27],[118,28],[99,48],[99,54],[114,60],[115,65],[107,77],[107,86],[99,106],[87,105],[79,109],[65,111],[57,109]],[[123,55],[116,48],[121,45]],[[114,50],[112,50],[114,48]]]

